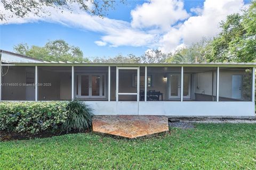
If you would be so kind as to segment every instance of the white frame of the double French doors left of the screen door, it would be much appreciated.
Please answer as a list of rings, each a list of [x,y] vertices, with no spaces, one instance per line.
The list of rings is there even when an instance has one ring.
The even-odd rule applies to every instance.
[[[78,75],[78,95],[76,94],[76,98],[86,98],[86,99],[106,99],[107,95],[106,95],[106,90],[107,90],[107,78],[106,78],[106,73],[76,73],[75,77]],[[89,96],[82,96],[81,95],[81,76],[82,75],[88,75],[89,76]],[[92,76],[93,75],[100,75],[100,96],[92,96]],[[105,81],[104,81],[104,95],[102,95],[102,77],[105,77]],[[76,90],[76,88],[75,88]]]

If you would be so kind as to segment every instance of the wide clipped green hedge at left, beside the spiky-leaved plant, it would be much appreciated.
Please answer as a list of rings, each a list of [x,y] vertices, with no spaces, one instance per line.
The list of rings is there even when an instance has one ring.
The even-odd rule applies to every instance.
[[[1,102],[0,130],[38,133],[59,129],[67,120],[67,102]]]

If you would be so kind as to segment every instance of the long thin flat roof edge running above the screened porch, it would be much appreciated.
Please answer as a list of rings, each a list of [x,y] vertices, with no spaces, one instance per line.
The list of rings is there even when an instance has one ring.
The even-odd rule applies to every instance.
[[[13,66],[197,66],[256,67],[256,63],[12,63]]]

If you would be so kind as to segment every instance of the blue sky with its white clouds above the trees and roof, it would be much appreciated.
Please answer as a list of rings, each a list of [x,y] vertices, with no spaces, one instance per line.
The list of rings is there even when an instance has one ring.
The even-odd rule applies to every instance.
[[[215,36],[219,32],[218,23],[248,3],[242,0],[164,1],[126,1],[108,11],[105,19],[86,13],[12,19],[0,26],[0,48],[12,51],[19,43],[43,46],[48,40],[64,39],[80,47],[84,56],[90,58],[131,53],[139,56],[151,48],[169,53],[202,37]]]

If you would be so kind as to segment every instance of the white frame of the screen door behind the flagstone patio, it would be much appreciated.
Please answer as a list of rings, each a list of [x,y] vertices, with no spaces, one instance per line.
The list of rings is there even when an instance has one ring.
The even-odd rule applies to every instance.
[[[119,92],[119,70],[137,70],[137,92]],[[139,100],[140,100],[140,67],[116,67],[116,111],[118,114],[118,102],[137,102],[137,114],[139,114]],[[137,101],[118,101],[119,95],[137,95]]]

